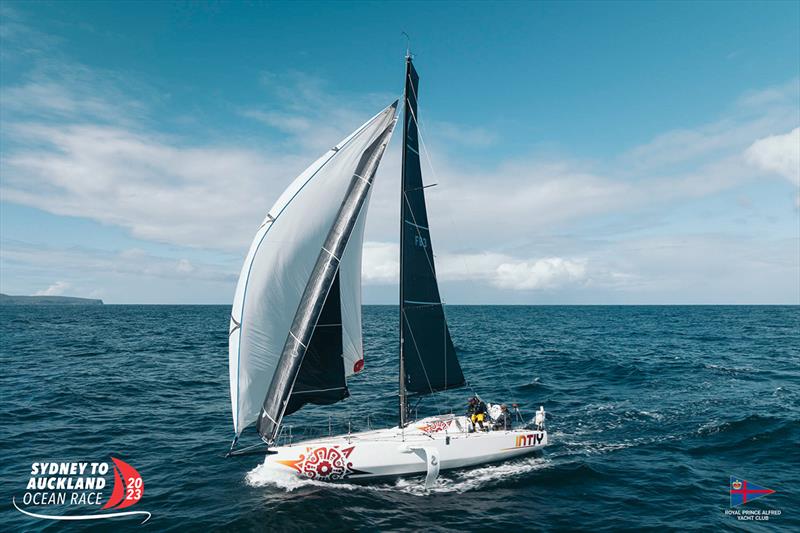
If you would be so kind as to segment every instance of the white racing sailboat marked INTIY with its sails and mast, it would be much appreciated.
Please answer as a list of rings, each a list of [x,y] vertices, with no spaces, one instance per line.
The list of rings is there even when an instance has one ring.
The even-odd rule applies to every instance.
[[[455,414],[410,419],[409,395],[466,384],[439,294],[420,165],[419,76],[406,55],[400,191],[400,345],[395,427],[286,442],[284,418],[349,396],[364,370],[361,254],[375,173],[398,102],[298,176],[267,212],[241,270],[229,329],[237,444],[255,424],[265,467],[323,481],[424,475],[505,461],[548,444],[543,408],[523,427],[475,427]]]

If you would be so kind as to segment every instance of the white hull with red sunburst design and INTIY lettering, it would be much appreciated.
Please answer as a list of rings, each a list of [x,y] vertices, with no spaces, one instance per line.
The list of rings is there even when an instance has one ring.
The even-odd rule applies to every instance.
[[[380,429],[273,448],[264,465],[280,473],[321,481],[425,474],[504,461],[547,445],[544,430],[468,431],[463,416],[429,417],[403,431]]]

